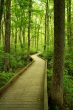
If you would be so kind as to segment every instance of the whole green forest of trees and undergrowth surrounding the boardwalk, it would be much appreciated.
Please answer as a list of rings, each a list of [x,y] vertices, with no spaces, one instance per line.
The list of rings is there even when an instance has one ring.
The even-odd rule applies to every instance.
[[[39,52],[49,110],[73,110],[73,0],[0,0],[0,88]]]

